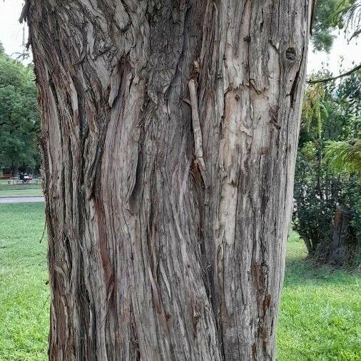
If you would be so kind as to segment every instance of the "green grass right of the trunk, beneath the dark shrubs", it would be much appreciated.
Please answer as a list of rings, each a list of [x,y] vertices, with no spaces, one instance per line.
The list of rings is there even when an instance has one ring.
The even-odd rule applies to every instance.
[[[288,240],[278,360],[361,360],[360,275],[315,267],[296,233]]]

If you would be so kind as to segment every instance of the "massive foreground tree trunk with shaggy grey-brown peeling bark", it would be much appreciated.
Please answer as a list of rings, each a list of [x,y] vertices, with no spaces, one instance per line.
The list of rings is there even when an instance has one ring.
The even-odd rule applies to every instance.
[[[309,0],[28,0],[51,360],[274,360]]]

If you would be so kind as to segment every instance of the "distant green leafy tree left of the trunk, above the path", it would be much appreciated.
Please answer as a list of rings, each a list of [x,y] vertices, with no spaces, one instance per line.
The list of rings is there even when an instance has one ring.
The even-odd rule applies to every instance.
[[[34,71],[0,51],[0,166],[39,166]]]

